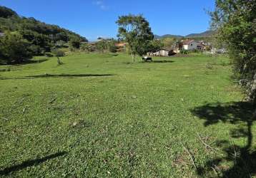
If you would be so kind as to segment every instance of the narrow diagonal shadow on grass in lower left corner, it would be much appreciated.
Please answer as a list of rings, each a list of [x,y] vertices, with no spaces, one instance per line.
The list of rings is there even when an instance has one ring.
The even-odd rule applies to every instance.
[[[22,162],[21,164],[17,164],[17,165],[11,166],[11,167],[6,167],[5,169],[0,170],[0,175],[6,175],[6,174],[9,174],[11,172],[16,172],[16,171],[19,171],[21,169],[25,169],[26,167],[37,166],[37,165],[39,165],[43,162],[46,162],[49,159],[54,159],[56,157],[61,157],[61,156],[64,156],[64,155],[67,155],[67,152],[57,152],[55,154],[52,154],[52,155],[49,155],[49,156],[46,156],[46,157],[42,157],[40,159],[31,159],[31,160]]]

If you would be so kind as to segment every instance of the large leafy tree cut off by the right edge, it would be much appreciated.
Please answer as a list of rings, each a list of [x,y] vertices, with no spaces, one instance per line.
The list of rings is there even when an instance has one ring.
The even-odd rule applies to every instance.
[[[212,28],[227,46],[237,77],[256,104],[256,1],[216,0]]]

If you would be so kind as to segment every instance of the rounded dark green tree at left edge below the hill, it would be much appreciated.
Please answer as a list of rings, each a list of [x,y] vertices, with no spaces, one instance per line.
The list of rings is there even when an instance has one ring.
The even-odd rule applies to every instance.
[[[31,58],[30,43],[17,32],[7,32],[0,38],[0,54],[7,63],[21,63]]]

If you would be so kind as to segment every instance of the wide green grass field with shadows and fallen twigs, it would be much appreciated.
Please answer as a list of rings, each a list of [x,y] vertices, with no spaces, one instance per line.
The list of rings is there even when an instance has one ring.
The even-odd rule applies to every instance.
[[[0,66],[2,177],[249,177],[252,108],[229,59],[124,54]],[[194,163],[195,164],[194,164]]]

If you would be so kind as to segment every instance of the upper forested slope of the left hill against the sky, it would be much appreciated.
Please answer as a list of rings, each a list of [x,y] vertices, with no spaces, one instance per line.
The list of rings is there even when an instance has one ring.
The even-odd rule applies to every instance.
[[[31,42],[35,48],[49,50],[52,43],[68,42],[72,39],[87,41],[87,38],[59,26],[37,21],[34,18],[19,16],[15,11],[0,6],[0,32],[17,31]]]

